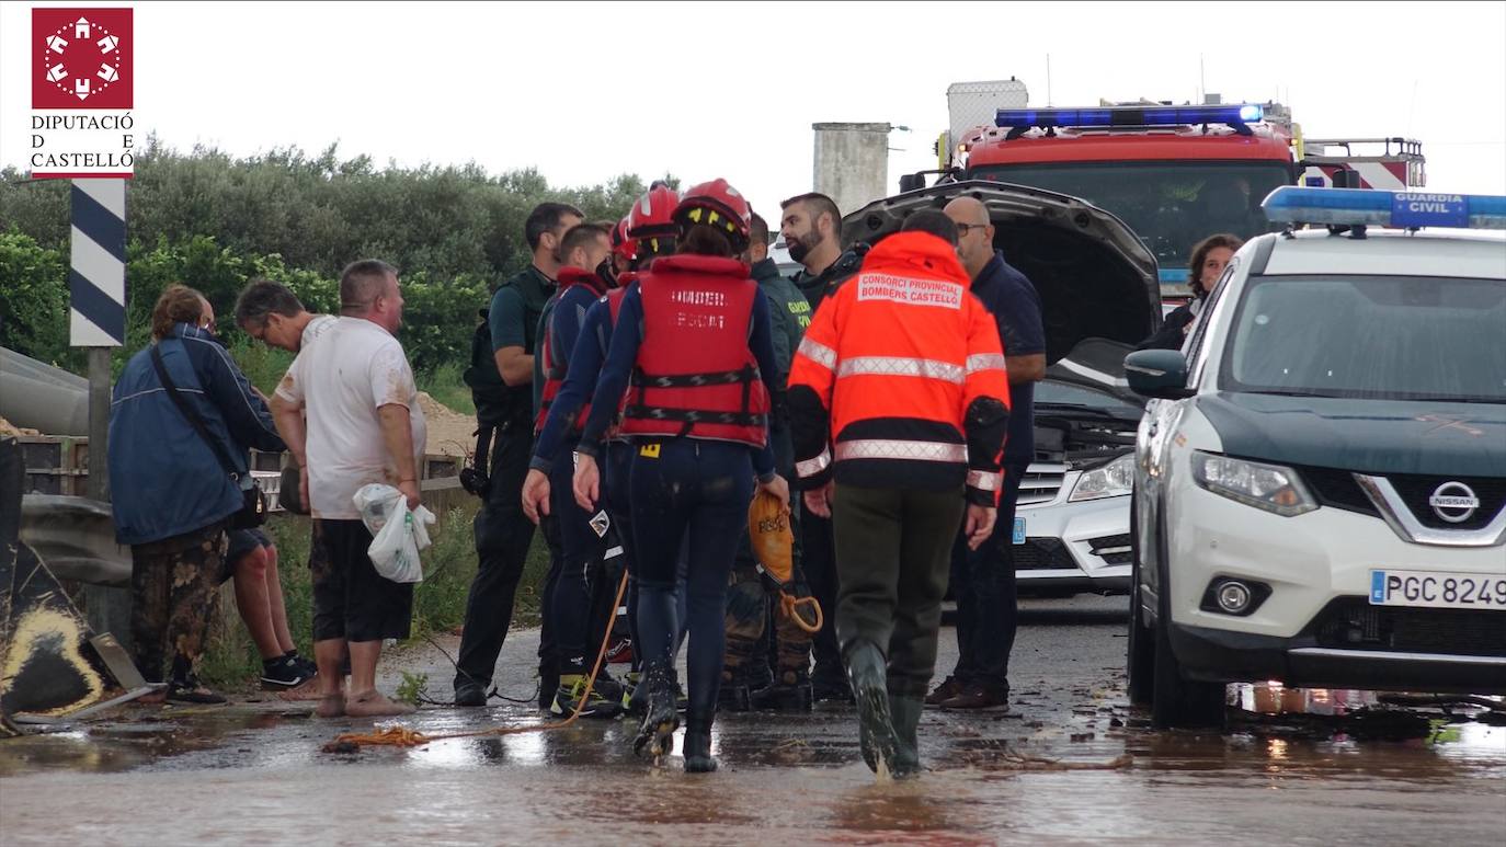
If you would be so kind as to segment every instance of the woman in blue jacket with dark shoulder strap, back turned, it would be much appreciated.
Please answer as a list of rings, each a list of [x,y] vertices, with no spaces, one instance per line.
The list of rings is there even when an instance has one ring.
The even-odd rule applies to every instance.
[[[167,394],[154,348],[233,472]],[[108,459],[116,540],[131,546],[136,663],[160,682],[172,654],[172,701],[224,703],[199,683],[197,665],[218,599],[224,528],[252,484],[245,447],[285,450],[267,403],[208,331],[203,296],[169,286],[152,308],[152,345],[131,357],[114,384]]]

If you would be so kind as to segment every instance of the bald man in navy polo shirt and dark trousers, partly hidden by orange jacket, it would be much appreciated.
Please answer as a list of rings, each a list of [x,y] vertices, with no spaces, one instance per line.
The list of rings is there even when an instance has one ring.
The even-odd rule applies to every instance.
[[[1015,645],[1017,600],[1011,537],[1020,480],[1035,454],[1035,384],[1045,376],[1045,328],[1035,286],[1011,268],[994,247],[988,208],[973,197],[958,197],[943,211],[956,224],[956,251],[973,277],[973,293],[998,322],[1012,411],[994,536],[976,551],[967,548],[965,539],[958,539],[952,551],[952,593],[958,611],[956,668],[926,703],[943,709],[997,712],[1009,709],[1009,653]]]

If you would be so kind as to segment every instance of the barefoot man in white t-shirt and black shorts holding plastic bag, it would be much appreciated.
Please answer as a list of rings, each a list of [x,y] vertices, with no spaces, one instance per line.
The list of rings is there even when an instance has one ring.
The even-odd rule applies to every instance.
[[[419,505],[428,430],[393,337],[401,325],[398,271],[375,259],[349,265],[340,274],[340,317],[298,354],[273,402],[277,429],[304,468],[304,502],[321,525],[324,567],[312,575],[321,718],[413,712],[376,691],[383,639],[408,636],[413,584],[376,573],[366,555],[372,536],[352,499],[361,486],[386,483],[407,495],[410,509]],[[349,694],[339,674],[346,644]]]

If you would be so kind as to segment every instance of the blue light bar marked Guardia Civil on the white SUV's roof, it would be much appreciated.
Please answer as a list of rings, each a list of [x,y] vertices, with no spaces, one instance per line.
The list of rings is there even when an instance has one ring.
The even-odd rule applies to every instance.
[[[1283,185],[1271,191],[1261,208],[1267,220],[1294,224],[1506,229],[1506,197],[1486,194]]]

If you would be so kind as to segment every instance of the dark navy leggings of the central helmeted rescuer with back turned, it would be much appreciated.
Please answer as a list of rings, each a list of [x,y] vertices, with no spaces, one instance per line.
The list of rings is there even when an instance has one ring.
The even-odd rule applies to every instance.
[[[726,647],[727,573],[753,499],[748,447],[673,438],[643,442],[633,457],[634,567],[639,635],[646,660],[670,660],[681,629],[676,560],[685,540],[685,629],[690,632],[690,712],[711,715]],[[687,537],[688,530],[688,537]]]

